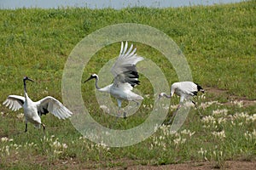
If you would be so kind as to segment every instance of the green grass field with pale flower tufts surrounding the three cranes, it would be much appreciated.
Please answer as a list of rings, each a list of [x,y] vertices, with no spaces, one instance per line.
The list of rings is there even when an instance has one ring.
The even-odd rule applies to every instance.
[[[1,169],[129,168],[184,162],[209,162],[212,168],[224,168],[226,161],[255,162],[255,1],[163,9],[2,9],[0,15]],[[45,138],[42,129],[32,124],[23,133],[23,111],[13,112],[2,105],[9,94],[23,95],[22,77],[36,81],[27,85],[31,99],[51,95],[61,100],[62,72],[75,45],[91,32],[119,23],[153,26],[177,42],[193,80],[206,89],[206,94],[195,99],[202,119],[191,109],[177,133],[161,126],[150,138],[123,148],[84,139],[70,121],[59,121],[52,115],[42,117],[47,127]],[[160,52],[134,44],[137,54],[159,65],[169,84],[178,81]],[[84,69],[83,80],[118,54],[119,43],[102,48]],[[147,119],[154,92],[146,77],[141,76],[141,82],[137,89],[145,99],[140,109],[113,128],[136,127]],[[81,90],[91,116],[111,126],[115,117],[100,109],[93,82],[82,84]],[[171,100],[169,115],[177,104],[178,98]]]

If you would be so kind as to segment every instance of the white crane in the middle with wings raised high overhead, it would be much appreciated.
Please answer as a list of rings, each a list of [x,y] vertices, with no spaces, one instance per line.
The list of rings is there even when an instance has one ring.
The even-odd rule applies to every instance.
[[[139,85],[138,73],[136,69],[137,62],[143,60],[143,57],[136,54],[137,48],[131,47],[128,49],[128,42],[121,42],[121,49],[118,59],[112,66],[111,72],[113,74],[114,80],[112,84],[104,88],[99,88],[97,82],[99,77],[96,74],[92,74],[84,82],[88,82],[91,79],[96,79],[96,89],[100,92],[105,92],[111,94],[115,99],[117,99],[119,111],[122,105],[122,100],[134,101],[137,103],[137,100],[143,100],[143,97],[133,93],[131,90],[136,85]],[[128,50],[127,50],[128,49]],[[137,103],[138,105],[138,103]],[[125,117],[125,114],[124,114]]]

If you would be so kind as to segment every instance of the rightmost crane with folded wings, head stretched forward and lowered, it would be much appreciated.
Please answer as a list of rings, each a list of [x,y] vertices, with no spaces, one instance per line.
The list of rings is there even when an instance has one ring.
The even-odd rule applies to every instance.
[[[171,86],[171,94],[168,95],[166,93],[160,93],[159,98],[166,97],[170,99],[174,94],[176,94],[177,96],[180,96],[179,105],[177,106],[177,110],[178,110],[181,107],[183,101],[186,99],[189,99],[195,105],[195,101],[193,101],[192,98],[195,95],[197,95],[198,92],[204,93],[204,89],[201,88],[201,86],[195,82],[174,82]],[[195,107],[197,108],[196,105]],[[173,114],[173,116],[175,116],[175,114],[176,114],[176,111]],[[171,121],[172,119],[170,120],[170,122]]]

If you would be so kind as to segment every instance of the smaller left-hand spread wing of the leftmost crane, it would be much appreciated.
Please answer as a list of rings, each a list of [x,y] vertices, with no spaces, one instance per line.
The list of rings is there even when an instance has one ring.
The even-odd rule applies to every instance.
[[[22,107],[24,102],[25,98],[23,96],[9,95],[7,99],[3,102],[3,105],[6,105],[12,111],[17,111]]]

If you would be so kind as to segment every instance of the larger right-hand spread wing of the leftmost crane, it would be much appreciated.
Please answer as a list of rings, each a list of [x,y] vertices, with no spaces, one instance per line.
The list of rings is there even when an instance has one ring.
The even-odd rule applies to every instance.
[[[38,114],[46,115],[47,113],[52,113],[54,116],[59,119],[66,119],[69,116],[72,116],[73,113],[67,109],[61,102],[51,96],[47,96],[44,99],[40,99],[37,102]]]

